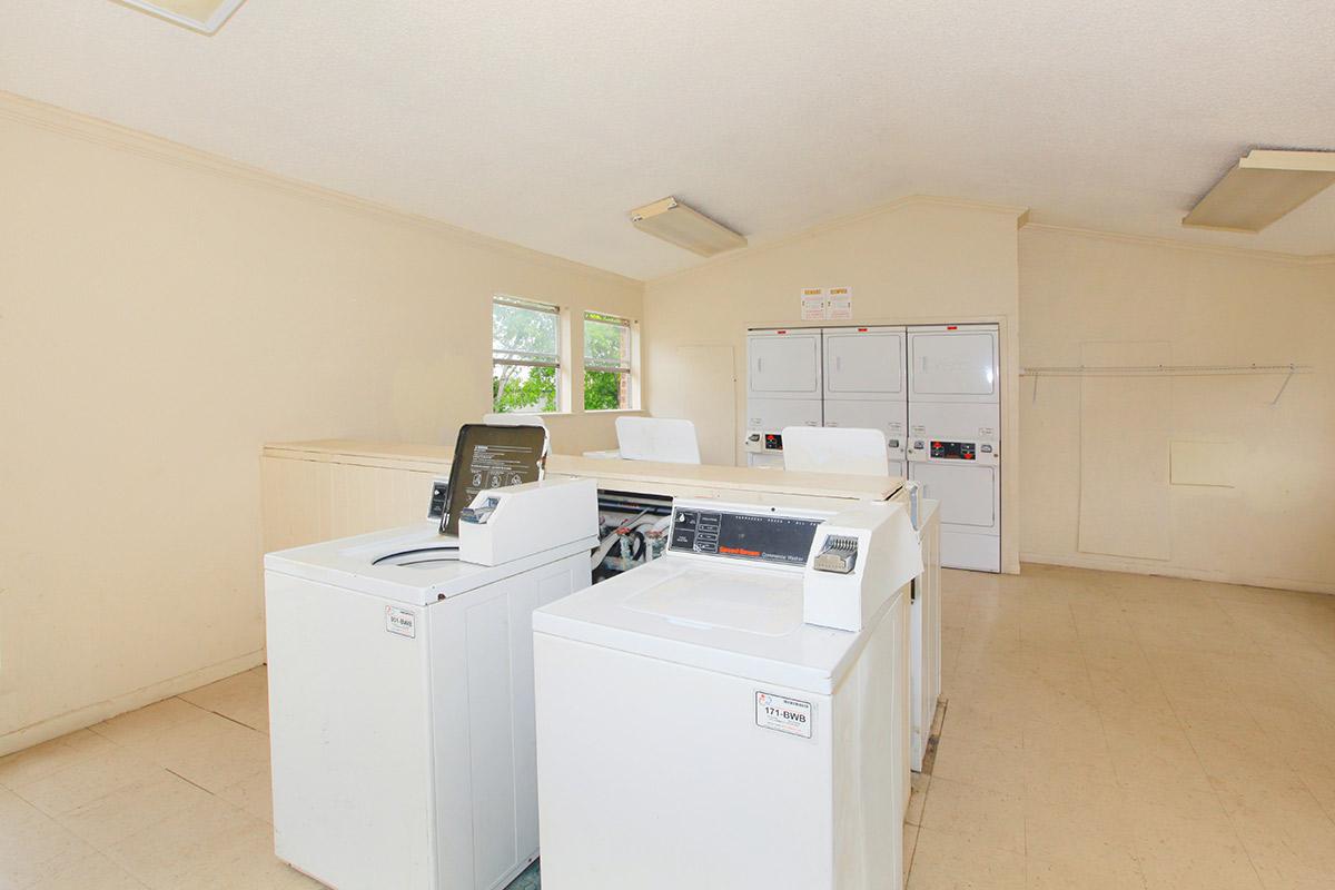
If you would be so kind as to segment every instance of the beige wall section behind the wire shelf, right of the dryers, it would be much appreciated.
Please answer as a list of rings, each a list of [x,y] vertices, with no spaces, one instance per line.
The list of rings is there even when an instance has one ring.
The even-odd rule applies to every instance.
[[[1147,239],[1041,227],[1020,234],[1021,364],[1076,366],[1089,344],[1128,354],[1145,344],[1172,364],[1311,364],[1279,404],[1278,376],[1172,378],[1157,383],[1043,378],[1021,386],[1025,559],[1335,591],[1335,266],[1206,251]],[[1140,344],[1127,347],[1125,344]],[[1099,408],[1117,404],[1112,416]],[[1108,396],[1112,396],[1108,400]],[[1081,443],[1081,426],[1085,440]],[[1123,447],[1088,438],[1111,428]],[[1124,503],[1085,512],[1097,475],[1125,474],[1139,455],[1177,480],[1132,483]],[[1193,443],[1204,443],[1196,446]],[[1084,444],[1084,448],[1081,448]],[[1092,456],[1093,455],[1093,456]],[[1100,456],[1101,455],[1101,456]],[[1091,466],[1091,460],[1103,463]],[[1161,504],[1161,511],[1148,506]],[[1161,512],[1160,515],[1153,515]],[[1160,556],[1135,542],[1091,543],[1101,522],[1140,522]],[[1085,540],[1081,540],[1081,531]],[[1116,552],[1091,552],[1113,550]],[[1129,555],[1128,555],[1129,554]]]

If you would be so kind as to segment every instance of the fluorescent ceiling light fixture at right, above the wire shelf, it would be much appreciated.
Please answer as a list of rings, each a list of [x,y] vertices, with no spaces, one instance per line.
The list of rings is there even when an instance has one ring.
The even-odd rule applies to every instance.
[[[1256,148],[1224,173],[1181,224],[1255,234],[1335,183],[1335,151]]]

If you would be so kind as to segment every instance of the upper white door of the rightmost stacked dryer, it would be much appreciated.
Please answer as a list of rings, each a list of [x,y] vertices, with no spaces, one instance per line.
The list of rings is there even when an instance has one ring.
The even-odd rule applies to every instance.
[[[952,326],[909,331],[909,398],[996,402],[997,330]]]

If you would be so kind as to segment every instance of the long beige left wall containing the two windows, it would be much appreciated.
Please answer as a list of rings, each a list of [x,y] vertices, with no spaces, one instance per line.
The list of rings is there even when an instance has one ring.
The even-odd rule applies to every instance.
[[[638,282],[9,99],[0,195],[0,753],[259,659],[260,443],[453,438],[495,292],[641,316]]]

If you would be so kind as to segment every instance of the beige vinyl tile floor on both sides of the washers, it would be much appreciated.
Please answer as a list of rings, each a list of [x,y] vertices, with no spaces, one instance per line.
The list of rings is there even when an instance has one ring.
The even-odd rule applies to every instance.
[[[1335,596],[1045,566],[944,588],[910,890],[1335,887]],[[259,667],[0,758],[0,890],[319,887],[272,854],[267,714]]]

